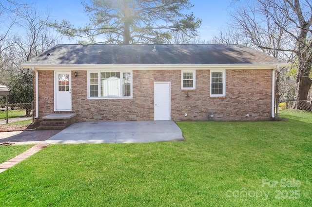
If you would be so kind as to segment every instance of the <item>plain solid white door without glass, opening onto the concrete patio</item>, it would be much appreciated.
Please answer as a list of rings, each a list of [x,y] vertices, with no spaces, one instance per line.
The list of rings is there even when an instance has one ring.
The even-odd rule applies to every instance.
[[[154,83],[154,120],[168,121],[171,116],[170,82]]]

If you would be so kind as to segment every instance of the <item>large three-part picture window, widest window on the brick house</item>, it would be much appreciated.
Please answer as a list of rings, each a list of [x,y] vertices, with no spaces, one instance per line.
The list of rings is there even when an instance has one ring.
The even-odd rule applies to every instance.
[[[88,98],[132,98],[132,72],[90,71]]]

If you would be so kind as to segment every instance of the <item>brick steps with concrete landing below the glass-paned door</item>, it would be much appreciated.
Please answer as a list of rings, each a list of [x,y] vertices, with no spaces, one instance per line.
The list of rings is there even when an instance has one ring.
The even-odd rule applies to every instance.
[[[43,117],[39,123],[39,127],[37,130],[59,130],[65,129],[67,126],[71,125],[72,123],[76,122],[76,114],[67,116],[67,114],[57,116],[46,116]]]

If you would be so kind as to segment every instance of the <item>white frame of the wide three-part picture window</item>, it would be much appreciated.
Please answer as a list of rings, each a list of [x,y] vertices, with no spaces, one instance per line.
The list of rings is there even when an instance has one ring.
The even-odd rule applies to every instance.
[[[120,79],[122,80],[123,79],[123,75],[122,73],[130,73],[130,96],[111,96],[111,97],[101,97],[101,87],[100,87],[100,79],[101,79],[101,75],[100,73],[101,72],[119,72],[120,73]],[[98,73],[98,97],[91,97],[91,94],[90,94],[90,73]],[[114,69],[110,69],[110,70],[89,70],[88,71],[88,75],[87,75],[87,85],[88,85],[88,97],[87,99],[132,99],[133,98],[133,80],[132,80],[132,76],[133,76],[133,73],[132,73],[132,70],[114,70]],[[120,81],[120,94],[122,95],[122,81]]]

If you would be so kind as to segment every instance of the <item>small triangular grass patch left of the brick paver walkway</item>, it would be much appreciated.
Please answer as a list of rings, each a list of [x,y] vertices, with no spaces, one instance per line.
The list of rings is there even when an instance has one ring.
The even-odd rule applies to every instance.
[[[1,141],[1,139],[0,139]],[[31,148],[33,145],[8,145],[8,146],[0,146],[0,164],[2,162],[8,161],[9,159],[15,157],[16,155],[20,155],[24,151]],[[0,197],[1,199],[1,197]]]

